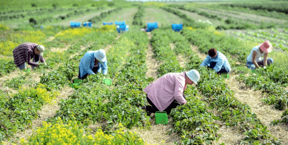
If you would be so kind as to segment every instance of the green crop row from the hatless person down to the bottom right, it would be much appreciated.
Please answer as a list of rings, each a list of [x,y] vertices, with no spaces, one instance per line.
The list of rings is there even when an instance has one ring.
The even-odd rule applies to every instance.
[[[194,33],[193,30],[186,29],[184,31]],[[183,32],[183,34],[187,33]],[[189,48],[186,51],[189,51]],[[207,102],[211,109],[217,110],[215,120],[221,120],[227,126],[239,126],[239,131],[246,135],[242,138],[241,143],[243,144],[281,144],[268,133],[267,127],[260,122],[256,114],[251,112],[250,107],[234,97],[234,92],[224,83],[223,77],[218,76],[213,70],[199,67],[202,61],[198,56],[186,57],[189,58],[187,68],[199,68],[197,70],[201,77],[197,89],[203,95],[202,100]]]

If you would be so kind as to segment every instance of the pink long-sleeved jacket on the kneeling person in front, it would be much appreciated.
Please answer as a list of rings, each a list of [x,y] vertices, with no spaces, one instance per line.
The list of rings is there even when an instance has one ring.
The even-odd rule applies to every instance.
[[[175,99],[178,103],[186,103],[183,91],[186,72],[168,73],[148,85],[143,91],[159,111],[165,110]]]

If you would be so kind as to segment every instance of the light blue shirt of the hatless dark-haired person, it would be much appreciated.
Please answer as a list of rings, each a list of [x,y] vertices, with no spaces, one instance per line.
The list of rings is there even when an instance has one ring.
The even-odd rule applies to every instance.
[[[205,60],[202,62],[202,64],[200,66],[207,66],[212,61],[216,62],[216,65],[213,68],[213,70],[215,70],[215,72],[220,71],[223,66],[228,71],[231,70],[229,62],[228,62],[226,56],[223,53],[219,52],[219,51],[217,51],[217,56],[215,58],[212,58],[211,56],[207,55],[207,57],[205,58]]]

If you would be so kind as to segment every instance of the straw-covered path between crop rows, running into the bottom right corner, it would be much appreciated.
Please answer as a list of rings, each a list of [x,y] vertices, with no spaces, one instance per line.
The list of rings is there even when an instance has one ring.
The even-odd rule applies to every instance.
[[[234,91],[237,100],[251,107],[251,111],[267,126],[270,134],[281,140],[283,144],[288,144],[288,125],[284,123],[275,126],[270,125],[273,120],[281,120],[283,111],[275,109],[273,105],[265,105],[261,101],[265,96],[258,90],[246,87],[243,82],[239,83],[235,79],[236,76],[238,75],[230,75],[230,78],[225,80],[225,83]]]

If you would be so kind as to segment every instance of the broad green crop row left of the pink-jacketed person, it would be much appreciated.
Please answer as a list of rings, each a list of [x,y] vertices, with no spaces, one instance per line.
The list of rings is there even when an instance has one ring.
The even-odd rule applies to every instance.
[[[122,123],[126,128],[133,126],[145,127],[150,124],[144,110],[139,107],[144,103],[144,97],[141,91],[134,90],[134,87],[141,89],[141,87],[139,88],[141,80],[138,80],[139,85],[136,85],[133,81],[124,80],[127,79],[126,75],[143,74],[145,72],[145,65],[141,65],[145,61],[142,60],[140,63],[135,60],[135,58],[139,58],[137,55],[141,55],[141,58],[143,58],[142,53],[145,50],[139,49],[139,47],[145,47],[142,44],[143,42],[138,42],[141,45],[138,44],[136,46],[135,42],[139,39],[132,39],[135,42],[131,41],[128,33],[121,35],[119,41],[116,41],[113,47],[106,53],[108,73],[111,78],[114,77],[116,84],[113,83],[112,86],[105,85],[102,83],[103,76],[100,74],[88,76],[79,87],[76,87],[70,99],[60,101],[60,110],[51,120],[61,117],[67,121],[73,115],[76,120],[84,122],[86,125],[106,121],[107,125],[103,126],[103,128],[107,131],[117,123]],[[139,36],[137,37],[140,38]],[[131,48],[133,48],[132,51],[130,50]],[[139,52],[139,50],[143,51]],[[133,57],[127,55],[128,51],[130,51]],[[122,62],[125,61],[127,63],[123,64]],[[138,67],[142,66],[143,69],[136,69],[136,65],[131,65],[133,63],[140,63]],[[131,67],[125,65],[131,65]],[[122,80],[124,81],[123,83],[121,82]],[[133,80],[136,79],[134,78]],[[91,86],[93,89],[91,89]],[[133,90],[128,89],[130,87]]]

